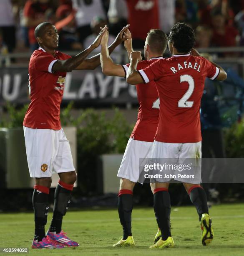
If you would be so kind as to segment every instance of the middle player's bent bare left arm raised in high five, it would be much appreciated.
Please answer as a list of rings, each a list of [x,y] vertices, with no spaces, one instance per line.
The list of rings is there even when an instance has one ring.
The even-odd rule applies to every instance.
[[[105,32],[101,40],[100,59],[103,74],[106,74],[107,76],[125,77],[123,67],[121,65],[114,64],[113,60],[109,56],[108,31]]]

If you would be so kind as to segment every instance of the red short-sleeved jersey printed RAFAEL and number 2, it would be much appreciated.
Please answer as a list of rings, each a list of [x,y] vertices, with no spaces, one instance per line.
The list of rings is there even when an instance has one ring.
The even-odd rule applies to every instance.
[[[203,57],[174,55],[139,70],[145,83],[156,82],[160,98],[156,141],[201,141],[200,103],[206,77],[215,79],[219,68]]]

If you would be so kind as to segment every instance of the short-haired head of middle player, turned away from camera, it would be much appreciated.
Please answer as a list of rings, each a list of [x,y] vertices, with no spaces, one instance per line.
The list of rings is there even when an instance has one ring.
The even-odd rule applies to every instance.
[[[167,48],[168,36],[160,29],[151,29],[146,38],[147,44],[154,53],[164,54]]]

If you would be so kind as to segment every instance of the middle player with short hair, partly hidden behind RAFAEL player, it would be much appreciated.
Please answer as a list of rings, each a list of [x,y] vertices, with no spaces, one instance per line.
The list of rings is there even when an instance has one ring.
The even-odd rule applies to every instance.
[[[126,32],[127,40],[124,45],[128,54],[131,54],[132,39],[129,30]],[[167,48],[168,37],[158,29],[151,29],[146,37],[144,56],[146,60],[138,63],[137,69],[148,67],[159,59],[163,59],[164,51]],[[101,40],[101,67],[103,73],[110,76],[126,77],[129,64],[117,65],[109,56],[108,52],[108,31]],[[121,178],[118,193],[118,214],[123,226],[123,238],[114,244],[114,247],[134,246],[131,233],[131,212],[133,208],[133,188],[139,180],[139,159],[150,157],[153,138],[158,126],[159,98],[154,81],[148,84],[136,84],[139,112],[136,125],[131,133],[121,166],[118,170],[118,177]],[[141,181],[141,180],[140,180]]]

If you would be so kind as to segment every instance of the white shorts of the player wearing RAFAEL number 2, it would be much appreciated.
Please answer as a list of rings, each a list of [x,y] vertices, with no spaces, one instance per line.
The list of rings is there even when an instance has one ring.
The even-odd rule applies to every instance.
[[[162,172],[160,172],[163,177],[165,177],[165,174],[172,174],[176,177],[165,177],[156,179],[157,182],[169,182],[171,179],[174,179],[180,182],[192,184],[201,183],[201,141],[196,143],[165,143],[154,141],[151,158],[154,162],[160,162],[160,164],[162,165],[166,163],[173,165],[176,164],[178,166],[178,169],[164,169]],[[179,166],[181,166],[182,168],[183,164],[190,164],[189,169],[180,169],[179,171]]]

